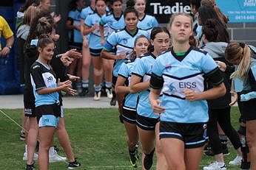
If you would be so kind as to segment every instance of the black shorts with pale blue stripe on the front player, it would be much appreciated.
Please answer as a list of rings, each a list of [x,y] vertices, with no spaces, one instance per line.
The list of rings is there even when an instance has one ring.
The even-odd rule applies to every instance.
[[[181,124],[160,121],[160,139],[178,138],[184,142],[185,149],[202,147],[206,143],[206,124]]]

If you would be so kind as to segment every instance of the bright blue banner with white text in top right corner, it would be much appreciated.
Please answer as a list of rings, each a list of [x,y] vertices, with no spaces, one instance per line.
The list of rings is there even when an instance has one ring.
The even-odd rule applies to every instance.
[[[229,16],[229,23],[256,22],[256,0],[216,0],[216,4]]]

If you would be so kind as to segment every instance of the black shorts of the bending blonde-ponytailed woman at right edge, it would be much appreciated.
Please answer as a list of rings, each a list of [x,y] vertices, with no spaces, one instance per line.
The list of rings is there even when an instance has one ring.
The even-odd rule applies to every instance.
[[[244,121],[252,121],[256,119],[256,99],[250,99],[246,102],[240,102],[241,118]]]

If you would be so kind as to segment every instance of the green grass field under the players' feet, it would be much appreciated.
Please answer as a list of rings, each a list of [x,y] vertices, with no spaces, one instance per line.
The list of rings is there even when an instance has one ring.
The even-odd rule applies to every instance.
[[[21,124],[21,109],[2,111]],[[232,107],[232,124],[235,129],[238,129],[238,117],[238,107]],[[119,122],[118,110],[66,109],[65,124],[75,157],[82,164],[80,169],[134,169],[129,167],[126,133],[123,124]],[[19,130],[16,124],[0,113],[0,169],[24,169],[24,142],[19,140]],[[60,148],[59,155],[63,156],[63,149],[56,138],[54,144]],[[236,156],[230,143],[229,152],[231,154],[225,156],[227,166]],[[201,169],[213,161],[213,157],[203,156]],[[38,164],[35,165],[38,168]],[[50,169],[67,169],[67,163],[50,163]],[[141,166],[137,169],[141,169]],[[238,167],[228,166],[228,169]]]

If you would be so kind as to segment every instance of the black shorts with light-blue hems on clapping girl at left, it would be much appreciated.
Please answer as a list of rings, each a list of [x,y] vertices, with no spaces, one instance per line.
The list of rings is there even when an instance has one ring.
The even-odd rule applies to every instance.
[[[38,122],[38,126],[40,125],[41,121],[41,117],[42,116],[52,116],[55,118],[59,118],[61,117],[61,105],[57,105],[57,104],[53,104],[53,105],[41,105],[36,107],[36,120]],[[52,121],[57,121],[53,120],[51,118]],[[49,120],[49,121],[51,121]],[[44,121],[46,122],[46,121]],[[58,123],[58,122],[57,122]],[[49,125],[49,126],[55,126],[55,124]]]

